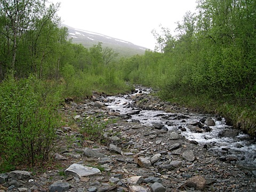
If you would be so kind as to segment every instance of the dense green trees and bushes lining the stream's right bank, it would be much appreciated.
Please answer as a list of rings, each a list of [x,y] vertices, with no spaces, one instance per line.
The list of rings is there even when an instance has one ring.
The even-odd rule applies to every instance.
[[[215,109],[256,135],[255,6],[255,1],[198,1],[197,14],[188,12],[177,22],[175,38],[163,27],[153,31],[162,54],[122,60],[123,78],[160,88],[164,99]],[[224,103],[229,107],[219,107]]]

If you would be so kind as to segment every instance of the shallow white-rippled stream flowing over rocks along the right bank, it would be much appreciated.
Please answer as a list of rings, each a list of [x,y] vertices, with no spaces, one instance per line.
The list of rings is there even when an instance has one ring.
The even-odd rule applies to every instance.
[[[136,94],[148,94],[150,89],[137,89]],[[169,131],[178,131],[182,137],[190,141],[195,141],[199,146],[209,150],[221,161],[242,166],[244,169],[254,170],[256,172],[256,143],[249,135],[242,132],[235,136],[220,136],[221,132],[232,133],[231,126],[226,125],[226,119],[212,114],[191,113],[166,113],[162,110],[142,110],[135,107],[135,101],[131,99],[132,95],[118,95],[107,98],[106,106],[121,115],[129,114],[130,118],[125,121],[140,122],[143,125],[154,126],[163,125],[164,129]],[[209,132],[191,131],[191,126],[198,122],[204,122],[202,119],[211,118],[214,126],[209,126]],[[163,129],[163,128],[162,128]],[[182,130],[182,131],[181,131]]]

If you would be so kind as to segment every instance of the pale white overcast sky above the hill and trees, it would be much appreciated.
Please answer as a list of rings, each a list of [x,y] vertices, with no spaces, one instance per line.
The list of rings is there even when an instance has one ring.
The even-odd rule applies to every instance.
[[[151,34],[159,25],[174,29],[196,0],[50,0],[60,2],[62,23],[154,50]]]

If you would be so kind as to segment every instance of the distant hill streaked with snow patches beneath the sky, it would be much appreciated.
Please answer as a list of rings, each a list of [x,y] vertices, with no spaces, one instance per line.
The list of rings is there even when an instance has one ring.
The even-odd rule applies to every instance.
[[[62,25],[68,28],[69,38],[72,38],[73,43],[81,43],[86,48],[97,45],[98,42],[102,42],[103,47],[110,47],[115,52],[119,53],[121,57],[129,57],[135,54],[144,54],[147,49],[146,47],[134,45],[131,42],[124,41],[122,39],[109,37],[99,33],[83,29],[75,29],[67,25]]]

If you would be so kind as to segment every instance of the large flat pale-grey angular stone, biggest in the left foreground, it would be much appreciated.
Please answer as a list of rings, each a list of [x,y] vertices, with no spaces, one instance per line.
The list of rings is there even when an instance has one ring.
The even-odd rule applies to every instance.
[[[81,178],[88,175],[99,174],[100,170],[94,167],[84,166],[81,164],[72,164],[65,170],[66,174],[74,175],[75,177]]]

